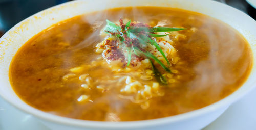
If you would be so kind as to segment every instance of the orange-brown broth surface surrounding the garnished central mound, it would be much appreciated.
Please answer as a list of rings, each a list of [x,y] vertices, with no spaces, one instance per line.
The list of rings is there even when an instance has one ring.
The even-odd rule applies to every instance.
[[[167,20],[167,27],[187,29],[170,37],[180,60],[170,66],[174,73],[168,85],[160,84],[162,96],[145,103],[131,101],[134,95],[120,92],[122,77],[143,84],[156,80],[141,79],[140,68],[117,72],[95,53],[96,44],[104,40],[99,35],[103,25],[96,27],[119,17],[153,26]],[[129,7],[74,17],[34,36],[13,58],[10,81],[21,99],[42,111],[83,120],[135,121],[177,115],[223,99],[244,83],[251,65],[247,41],[225,23],[179,9]],[[82,98],[90,100],[79,102]]]

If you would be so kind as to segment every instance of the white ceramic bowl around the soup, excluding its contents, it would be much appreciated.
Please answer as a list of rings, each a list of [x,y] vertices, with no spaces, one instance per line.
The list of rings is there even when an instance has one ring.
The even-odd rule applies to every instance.
[[[11,105],[33,115],[51,129],[201,129],[220,116],[234,101],[256,85],[256,64],[247,81],[228,97],[188,113],[145,121],[97,122],[76,120],[52,115],[30,107],[12,90],[9,82],[9,66],[17,50],[31,37],[52,24],[71,17],[98,10],[128,6],[173,7],[206,14],[219,19],[238,30],[249,42],[256,58],[256,22],[248,15],[227,5],[205,0],[88,0],[73,1],[41,11],[18,23],[0,39],[0,95]],[[143,17],[143,16],[142,16]]]

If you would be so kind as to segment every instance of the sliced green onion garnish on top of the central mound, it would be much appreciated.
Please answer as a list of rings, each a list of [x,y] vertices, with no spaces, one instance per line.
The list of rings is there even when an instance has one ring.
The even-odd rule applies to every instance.
[[[163,53],[163,50],[160,48],[158,43],[153,40],[153,37],[164,37],[167,35],[170,35],[170,33],[165,35],[158,35],[156,32],[173,32],[173,31],[181,31],[185,30],[182,28],[168,28],[168,27],[147,27],[147,25],[142,25],[141,27],[135,27],[134,23],[127,22],[126,24],[123,23],[123,20],[119,19],[120,25],[115,24],[114,22],[111,22],[109,20],[106,20],[106,27],[104,29],[104,32],[108,33],[110,36],[114,36],[119,38],[119,40],[125,44],[125,48],[127,50],[127,66],[131,63],[131,57],[134,53],[138,57],[140,54],[143,54],[145,57],[150,59],[152,70],[155,74],[155,77],[158,81],[160,81],[163,84],[167,84],[167,81],[164,76],[158,71],[158,69],[153,64],[152,60],[155,60],[165,71],[172,72],[170,69],[165,66],[156,56],[151,54],[149,51],[141,48],[141,46],[145,46],[147,44],[151,44],[156,47],[156,49],[161,53],[161,55],[166,60],[167,64],[170,65],[170,62],[166,58],[165,54]],[[133,41],[136,41],[133,43]],[[139,44],[138,44],[139,43]]]

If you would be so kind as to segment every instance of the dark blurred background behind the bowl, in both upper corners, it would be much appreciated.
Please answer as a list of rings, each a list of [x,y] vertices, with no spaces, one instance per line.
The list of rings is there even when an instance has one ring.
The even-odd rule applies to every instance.
[[[41,10],[68,1],[71,0],[0,0],[0,37],[23,19]],[[245,0],[216,1],[233,6],[256,19],[256,9],[250,6]]]

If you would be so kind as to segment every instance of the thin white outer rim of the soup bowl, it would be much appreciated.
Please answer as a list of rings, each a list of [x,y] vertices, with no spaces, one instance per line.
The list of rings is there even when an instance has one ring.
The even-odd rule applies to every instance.
[[[24,19],[23,21],[17,23],[13,28],[11,28],[8,32],[15,30],[15,28],[20,24],[23,23],[24,21],[30,19],[31,17],[37,16],[38,14],[45,12],[46,10],[52,10],[54,8],[58,8],[60,6],[63,5],[69,5],[71,3],[78,3],[80,1],[83,0],[78,0],[78,1],[71,1],[71,2],[66,2],[60,5],[56,5],[53,6],[51,8],[42,10],[26,19]],[[90,0],[88,0],[90,1]],[[246,17],[248,20],[253,20],[255,22],[254,19],[252,19],[250,16],[248,16],[247,14],[243,13],[242,11],[233,8],[231,6],[225,5],[223,3],[219,3],[216,1],[211,1],[212,4],[216,4],[216,5],[222,5],[230,10],[236,11],[236,13],[238,13],[238,15],[243,15],[244,17]],[[255,22],[256,23],[256,22]],[[0,41],[4,41],[4,39],[8,36],[8,32],[5,33],[1,38]],[[1,43],[1,42],[0,42]],[[251,73],[250,73],[251,74]],[[251,84],[252,85],[252,84]],[[67,118],[67,117],[61,117],[61,116],[57,116],[57,115],[53,115],[53,114],[49,114],[47,112],[43,112],[40,110],[37,110],[33,107],[31,107],[32,109],[34,109],[35,111],[29,111],[27,109],[25,109],[25,107],[23,106],[18,106],[15,103],[12,102],[12,100],[10,100],[8,97],[2,95],[2,93],[0,93],[0,97],[2,97],[3,99],[5,99],[8,103],[10,103],[12,106],[14,106],[15,108],[22,110],[23,112],[26,112],[28,114],[31,114],[39,119],[44,119],[46,121],[49,122],[54,122],[57,124],[63,124],[63,125],[69,125],[69,126],[76,126],[76,127],[97,127],[97,128],[134,128],[134,127],[150,127],[150,126],[156,126],[156,125],[161,125],[161,124],[167,124],[170,122],[179,122],[182,120],[186,120],[186,119],[190,119],[193,117],[197,117],[203,114],[206,114],[208,112],[213,112],[223,106],[229,106],[231,105],[232,102],[238,100],[239,98],[241,98],[242,96],[244,96],[246,93],[248,93],[250,90],[252,90],[254,87],[256,87],[256,85],[252,85],[252,87],[250,87],[249,89],[241,90],[242,87],[240,87],[238,90],[234,91],[233,93],[231,93],[230,95],[226,96],[225,98],[212,103],[211,105],[205,106],[201,109],[197,109],[197,110],[193,110],[190,112],[186,112],[183,114],[178,114],[178,115],[174,115],[174,116],[169,116],[169,117],[163,117],[163,118],[158,118],[158,119],[150,119],[150,120],[140,120],[140,121],[124,121],[124,122],[103,122],[103,121],[89,121],[89,120],[79,120],[79,119],[72,119],[72,118]]]

